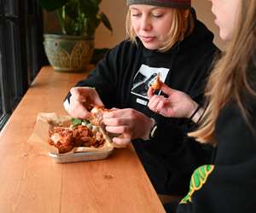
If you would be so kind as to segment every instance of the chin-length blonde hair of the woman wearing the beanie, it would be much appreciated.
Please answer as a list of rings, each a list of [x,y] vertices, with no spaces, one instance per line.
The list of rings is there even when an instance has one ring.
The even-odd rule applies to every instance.
[[[172,27],[168,33],[169,39],[158,50],[166,52],[168,49],[171,49],[177,41],[182,41],[184,37],[189,36],[193,32],[194,26],[194,18],[190,9],[172,9]],[[131,9],[128,9],[126,15],[126,33],[128,38],[136,43],[137,35],[131,25]]]

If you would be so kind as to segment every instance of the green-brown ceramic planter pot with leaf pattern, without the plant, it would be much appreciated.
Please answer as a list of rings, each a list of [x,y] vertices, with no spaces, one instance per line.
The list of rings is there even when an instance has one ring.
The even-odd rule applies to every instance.
[[[57,72],[83,72],[94,49],[94,38],[44,34],[44,49]]]

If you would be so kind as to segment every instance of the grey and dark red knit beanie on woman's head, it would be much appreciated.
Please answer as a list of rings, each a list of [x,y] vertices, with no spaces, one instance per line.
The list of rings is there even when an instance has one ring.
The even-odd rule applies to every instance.
[[[148,4],[167,8],[189,9],[191,0],[127,0],[127,5]]]

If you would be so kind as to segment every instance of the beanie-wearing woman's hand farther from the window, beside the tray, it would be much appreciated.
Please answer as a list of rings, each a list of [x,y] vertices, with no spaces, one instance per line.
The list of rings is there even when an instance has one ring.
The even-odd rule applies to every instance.
[[[113,137],[114,143],[126,145],[131,143],[132,139],[147,139],[154,120],[135,109],[125,108],[105,112],[103,123],[108,132],[119,135]]]

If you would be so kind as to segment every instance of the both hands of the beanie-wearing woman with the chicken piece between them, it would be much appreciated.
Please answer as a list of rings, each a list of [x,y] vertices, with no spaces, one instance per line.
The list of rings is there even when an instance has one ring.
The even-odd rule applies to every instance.
[[[102,126],[112,134],[114,143],[126,145],[132,139],[148,138],[154,121],[142,112],[131,108],[106,109],[96,89],[81,87],[70,92],[68,113],[73,118],[85,118],[96,126]]]

